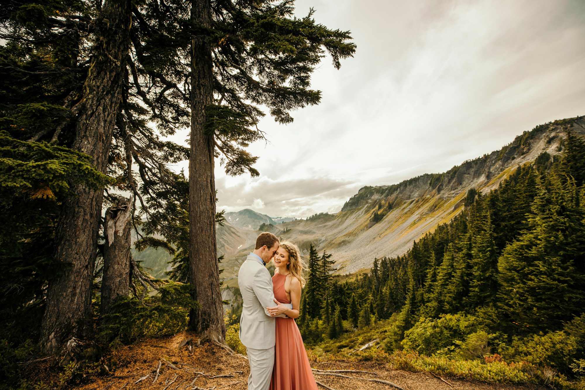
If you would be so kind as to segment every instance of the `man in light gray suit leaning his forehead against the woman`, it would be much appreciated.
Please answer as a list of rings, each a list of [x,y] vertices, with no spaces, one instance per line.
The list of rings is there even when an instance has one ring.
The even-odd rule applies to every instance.
[[[266,263],[274,256],[279,244],[276,235],[261,233],[256,238],[256,249],[238,272],[243,299],[240,341],[246,346],[250,362],[248,390],[267,390],[272,376],[276,318],[267,310],[274,306],[274,292]]]

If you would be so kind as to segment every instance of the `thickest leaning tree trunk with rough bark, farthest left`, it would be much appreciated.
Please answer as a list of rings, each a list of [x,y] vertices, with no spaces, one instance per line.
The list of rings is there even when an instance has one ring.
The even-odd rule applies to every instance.
[[[112,131],[122,98],[129,49],[129,0],[106,0],[95,22],[96,43],[85,81],[83,107],[77,117],[73,149],[94,158],[105,173]],[[55,257],[66,265],[51,280],[40,337],[46,354],[59,351],[70,337],[93,333],[91,286],[101,220],[103,189],[75,185],[77,197],[63,202],[56,231]]]

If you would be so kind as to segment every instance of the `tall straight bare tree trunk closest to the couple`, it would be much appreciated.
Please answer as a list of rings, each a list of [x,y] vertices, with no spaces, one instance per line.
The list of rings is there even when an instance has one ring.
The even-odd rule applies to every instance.
[[[192,0],[195,23],[211,27],[209,0]],[[202,336],[224,343],[225,325],[219,291],[215,242],[214,137],[204,130],[205,107],[213,100],[211,45],[205,37],[192,40],[191,155],[189,160],[189,282],[201,305],[191,310],[189,327]]]

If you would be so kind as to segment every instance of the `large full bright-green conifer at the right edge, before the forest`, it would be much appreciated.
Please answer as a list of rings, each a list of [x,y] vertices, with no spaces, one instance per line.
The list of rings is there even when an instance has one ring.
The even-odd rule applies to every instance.
[[[585,214],[574,180],[552,177],[539,188],[529,230],[500,257],[498,304],[511,321],[556,330],[585,306]]]

